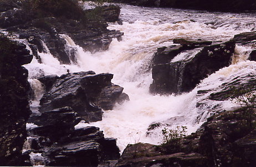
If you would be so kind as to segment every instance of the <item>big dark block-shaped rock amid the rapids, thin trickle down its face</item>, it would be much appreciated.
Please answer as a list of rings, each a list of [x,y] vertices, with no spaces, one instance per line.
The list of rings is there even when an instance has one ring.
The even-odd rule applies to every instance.
[[[202,47],[197,47],[200,46]],[[192,90],[207,75],[229,65],[235,42],[231,40],[223,44],[204,46],[203,49],[182,52],[194,47],[196,45],[184,44],[157,50],[152,60],[152,93],[171,94]],[[175,59],[179,53],[181,58]]]

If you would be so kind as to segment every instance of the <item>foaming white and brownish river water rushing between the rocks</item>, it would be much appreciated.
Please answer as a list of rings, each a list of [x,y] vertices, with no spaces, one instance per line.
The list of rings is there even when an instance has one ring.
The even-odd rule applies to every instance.
[[[47,53],[39,53],[42,63],[34,58],[25,65],[29,70],[29,80],[36,91],[37,100],[43,94],[43,87],[37,81],[42,73],[61,74],[79,71],[95,71],[96,73],[112,73],[112,83],[124,87],[130,101],[116,105],[114,110],[104,111],[103,120],[90,123],[80,122],[81,126],[97,126],[104,131],[105,137],[117,138],[120,150],[128,143],[148,142],[161,143],[161,128],[147,133],[151,123],[161,122],[170,128],[182,125],[188,127],[188,133],[194,132],[212,114],[212,107],[218,105],[230,110],[235,105],[231,101],[208,101],[203,107],[196,107],[209,94],[197,96],[198,90],[217,88],[234,76],[255,71],[256,63],[245,61],[250,47],[236,46],[232,65],[212,74],[190,93],[181,95],[160,96],[149,93],[152,83],[150,62],[157,47],[173,45],[177,37],[186,39],[202,39],[211,41],[227,41],[235,34],[253,31],[256,15],[208,13],[195,10],[170,8],[144,8],[121,5],[120,19],[122,25],[110,24],[108,29],[124,32],[122,40],[114,39],[107,51],[96,53],[84,52],[76,46],[69,36],[63,34],[67,41],[67,50],[76,49],[76,60],[71,65],[60,62]],[[182,58],[178,55],[175,59]],[[37,108],[34,101],[33,108]]]

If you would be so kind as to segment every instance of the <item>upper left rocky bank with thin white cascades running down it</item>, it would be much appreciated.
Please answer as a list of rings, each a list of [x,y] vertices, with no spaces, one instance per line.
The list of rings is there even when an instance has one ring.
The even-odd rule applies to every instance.
[[[27,39],[33,53],[50,52],[61,63],[70,64],[75,52],[65,47],[61,34],[69,35],[85,51],[107,50],[112,38],[121,40],[123,33],[106,29],[106,21],[118,21],[120,7],[102,6],[83,11],[70,0],[22,3],[21,9],[10,9],[0,14],[0,28],[6,28]],[[60,5],[62,4],[62,5]],[[28,9],[34,6],[33,9]],[[18,7],[16,7],[18,8]],[[9,8],[8,8],[9,9]],[[41,62],[37,55],[38,61]]]

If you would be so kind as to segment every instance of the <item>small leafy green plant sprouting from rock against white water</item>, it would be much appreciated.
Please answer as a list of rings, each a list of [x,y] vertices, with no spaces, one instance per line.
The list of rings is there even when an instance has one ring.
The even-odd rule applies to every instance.
[[[176,152],[181,149],[181,139],[187,135],[186,126],[177,126],[175,129],[162,129],[162,146],[166,153]]]

